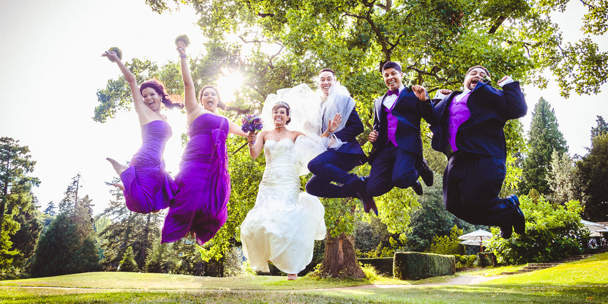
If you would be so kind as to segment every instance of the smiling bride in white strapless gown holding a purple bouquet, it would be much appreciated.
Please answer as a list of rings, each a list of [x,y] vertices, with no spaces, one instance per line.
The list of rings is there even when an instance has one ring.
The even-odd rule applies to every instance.
[[[326,150],[330,140],[287,130],[291,117],[285,102],[275,103],[271,113],[272,124],[268,120],[264,124],[274,128],[248,137],[251,157],[258,157],[264,148],[266,168],[255,206],[241,224],[241,242],[255,271],[269,272],[271,261],[288,274],[288,280],[295,280],[313,259],[314,240],[323,240],[326,233],[323,205],[316,196],[300,191],[298,175],[306,174],[308,160]],[[328,130],[336,130],[341,120],[336,114]]]

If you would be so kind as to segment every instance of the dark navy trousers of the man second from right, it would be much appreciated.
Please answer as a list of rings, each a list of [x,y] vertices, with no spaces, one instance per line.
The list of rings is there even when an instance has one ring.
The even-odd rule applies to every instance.
[[[418,158],[416,154],[395,146],[378,151],[371,164],[365,190],[371,196],[381,196],[393,187],[412,187],[420,176],[421,163]]]

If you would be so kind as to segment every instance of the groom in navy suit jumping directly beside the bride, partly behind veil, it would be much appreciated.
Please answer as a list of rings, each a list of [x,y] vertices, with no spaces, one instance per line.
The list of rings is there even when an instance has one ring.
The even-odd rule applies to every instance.
[[[330,88],[336,84],[336,72],[332,69],[322,69],[319,72],[319,88],[323,92],[323,109],[326,108],[326,100],[330,94]],[[367,156],[361,149],[356,137],[363,132],[363,123],[354,109],[353,98],[340,98],[341,102],[348,103],[352,107],[348,113],[348,120],[344,128],[338,129],[333,134],[327,130],[321,130],[327,136],[335,136],[344,142],[338,149],[328,148],[308,163],[308,170],[314,175],[306,183],[306,192],[322,198],[359,198],[361,199],[365,212],[373,210],[378,215],[374,199],[365,191],[365,178],[357,174],[348,173],[358,165],[367,162]],[[344,108],[347,105],[339,105]],[[336,113],[323,111],[323,122],[333,119]],[[345,119],[345,118],[343,118]],[[325,128],[325,127],[324,127]],[[332,182],[342,184],[336,185]]]

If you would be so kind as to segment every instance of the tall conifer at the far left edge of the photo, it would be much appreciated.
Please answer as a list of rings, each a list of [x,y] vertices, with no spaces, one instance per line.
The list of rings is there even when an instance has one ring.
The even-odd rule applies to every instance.
[[[0,137],[0,235],[5,223],[15,225],[12,215],[18,210],[32,211],[34,208],[31,190],[40,184],[40,180],[27,176],[36,164],[29,152],[27,146],[19,145],[19,140]]]

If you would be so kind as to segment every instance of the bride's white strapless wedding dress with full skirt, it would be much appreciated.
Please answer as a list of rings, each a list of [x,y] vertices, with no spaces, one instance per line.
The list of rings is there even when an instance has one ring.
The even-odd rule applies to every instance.
[[[269,272],[268,261],[297,274],[313,259],[314,240],[325,238],[325,209],[316,196],[300,192],[294,153],[309,145],[305,136],[266,140],[266,169],[255,206],[241,224],[243,253],[255,271]]]

